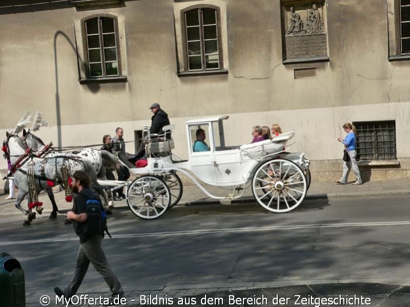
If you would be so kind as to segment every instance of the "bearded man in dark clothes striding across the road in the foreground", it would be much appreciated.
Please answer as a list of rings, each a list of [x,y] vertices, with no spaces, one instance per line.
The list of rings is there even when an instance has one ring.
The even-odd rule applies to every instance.
[[[77,170],[72,177],[70,187],[73,193],[77,193],[77,197],[74,202],[73,211],[67,212],[67,218],[73,222],[74,231],[80,239],[80,246],[78,248],[74,274],[70,283],[64,291],[56,287],[54,288],[54,292],[56,295],[64,296],[67,299],[75,295],[91,262],[95,270],[104,277],[104,280],[110,287],[111,297],[124,297],[121,284],[108,265],[106,255],[101,246],[104,234],[87,234],[84,231],[87,222],[87,200],[98,198],[98,196],[90,190],[90,178],[88,174],[82,170]]]

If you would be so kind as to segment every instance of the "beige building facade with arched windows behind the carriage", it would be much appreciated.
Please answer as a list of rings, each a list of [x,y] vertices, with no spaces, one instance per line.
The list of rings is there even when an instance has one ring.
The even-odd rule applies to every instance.
[[[45,143],[98,144],[118,126],[133,141],[158,102],[182,158],[187,120],[229,115],[228,145],[277,123],[313,180],[336,180],[353,122],[365,180],[410,178],[410,1],[3,0],[0,14],[4,138],[41,110]]]

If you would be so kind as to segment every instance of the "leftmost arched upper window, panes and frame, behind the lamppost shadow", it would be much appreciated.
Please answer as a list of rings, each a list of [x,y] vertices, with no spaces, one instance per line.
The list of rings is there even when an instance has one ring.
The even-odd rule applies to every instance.
[[[88,73],[91,78],[118,76],[116,19],[97,16],[85,20]]]

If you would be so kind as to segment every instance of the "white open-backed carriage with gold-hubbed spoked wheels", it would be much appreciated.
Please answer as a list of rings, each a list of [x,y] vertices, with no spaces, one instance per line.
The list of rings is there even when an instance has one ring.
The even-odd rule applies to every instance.
[[[204,193],[214,199],[238,199],[245,188],[251,186],[256,201],[272,212],[289,212],[303,201],[311,181],[309,160],[304,153],[287,153],[286,143],[294,132],[285,133],[273,140],[242,146],[226,146],[223,133],[224,117],[210,117],[186,122],[188,160],[180,160],[172,154],[173,125],[163,128],[164,134],[145,137],[147,165],[137,168],[127,157],[118,155],[121,164],[137,177],[119,182],[98,180],[112,190],[126,187],[127,203],[137,216],[152,219],[178,203],[182,195],[182,183],[178,173],[190,178]],[[198,128],[206,131],[209,151],[193,151]],[[225,196],[207,191],[202,183],[219,186]]]

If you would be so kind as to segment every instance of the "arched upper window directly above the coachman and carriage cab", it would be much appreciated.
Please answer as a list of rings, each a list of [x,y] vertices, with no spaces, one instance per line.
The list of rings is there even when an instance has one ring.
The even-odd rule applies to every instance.
[[[185,12],[188,71],[220,68],[217,10],[196,8]]]

